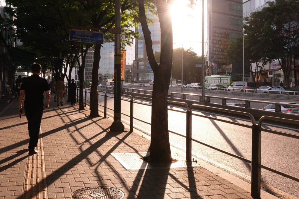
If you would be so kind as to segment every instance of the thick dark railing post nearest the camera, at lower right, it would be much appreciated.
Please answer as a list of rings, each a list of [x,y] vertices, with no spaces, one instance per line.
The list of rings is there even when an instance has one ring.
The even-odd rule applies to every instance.
[[[261,196],[261,130],[258,125],[252,125],[252,151],[251,151],[251,197]]]

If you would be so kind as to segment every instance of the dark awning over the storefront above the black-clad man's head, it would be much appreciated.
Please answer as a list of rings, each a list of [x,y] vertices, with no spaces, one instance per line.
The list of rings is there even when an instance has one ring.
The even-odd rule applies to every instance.
[[[31,68],[35,60],[35,54],[28,50],[23,50],[20,48],[11,47],[8,50],[11,61],[15,63],[15,65],[21,66],[21,68]]]

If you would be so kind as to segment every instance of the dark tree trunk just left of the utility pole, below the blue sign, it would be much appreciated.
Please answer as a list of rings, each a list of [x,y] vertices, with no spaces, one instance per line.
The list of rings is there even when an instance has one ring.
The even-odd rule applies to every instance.
[[[98,74],[99,74],[99,63],[101,59],[100,55],[101,45],[96,44],[94,48],[94,62],[92,65],[92,79],[90,89],[90,116],[99,117],[99,96],[97,93]]]

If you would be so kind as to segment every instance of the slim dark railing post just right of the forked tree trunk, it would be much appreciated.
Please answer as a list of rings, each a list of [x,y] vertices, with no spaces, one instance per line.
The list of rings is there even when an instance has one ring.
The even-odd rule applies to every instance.
[[[192,111],[187,108],[186,110],[186,162],[187,164],[192,162]]]

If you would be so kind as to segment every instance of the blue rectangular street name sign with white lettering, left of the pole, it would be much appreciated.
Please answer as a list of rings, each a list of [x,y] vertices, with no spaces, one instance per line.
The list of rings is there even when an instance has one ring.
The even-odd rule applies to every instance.
[[[85,31],[85,30],[70,30],[70,41],[87,42],[103,44],[104,33]]]

